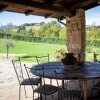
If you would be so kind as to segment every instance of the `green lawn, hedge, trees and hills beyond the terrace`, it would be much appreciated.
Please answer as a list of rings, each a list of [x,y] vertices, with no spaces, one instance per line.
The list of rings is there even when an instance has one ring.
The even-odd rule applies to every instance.
[[[9,23],[5,29],[0,28],[0,53],[7,52],[6,46],[10,40],[14,45],[10,43],[9,54],[25,54],[22,59],[27,61],[32,61],[36,55],[49,54],[52,60],[56,50],[67,50],[66,34],[67,29],[57,21],[25,23],[16,28]],[[95,24],[86,28],[87,61],[93,60],[93,52],[100,53],[100,26]]]

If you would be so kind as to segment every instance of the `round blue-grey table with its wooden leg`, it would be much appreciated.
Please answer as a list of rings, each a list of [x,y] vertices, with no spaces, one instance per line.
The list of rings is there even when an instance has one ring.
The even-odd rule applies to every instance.
[[[85,62],[82,66],[64,66],[61,62],[49,62],[33,66],[31,72],[51,79],[82,80],[84,100],[87,100],[87,81],[100,79],[100,63]]]

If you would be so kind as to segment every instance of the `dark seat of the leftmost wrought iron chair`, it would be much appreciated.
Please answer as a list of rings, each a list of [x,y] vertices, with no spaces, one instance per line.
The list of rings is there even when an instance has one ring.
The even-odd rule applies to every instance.
[[[26,78],[21,82],[21,85],[38,85],[40,82],[40,78]]]

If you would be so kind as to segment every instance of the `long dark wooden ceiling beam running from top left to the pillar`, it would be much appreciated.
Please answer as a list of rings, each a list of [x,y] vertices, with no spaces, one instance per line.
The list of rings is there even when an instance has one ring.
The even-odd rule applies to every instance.
[[[52,6],[45,3],[40,3],[40,2],[30,1],[30,0],[0,0],[0,4],[6,4],[10,6],[16,5],[16,6],[28,8],[30,10],[34,10],[34,9],[44,10],[51,14],[62,14],[62,16],[74,15],[74,13],[70,9]]]

